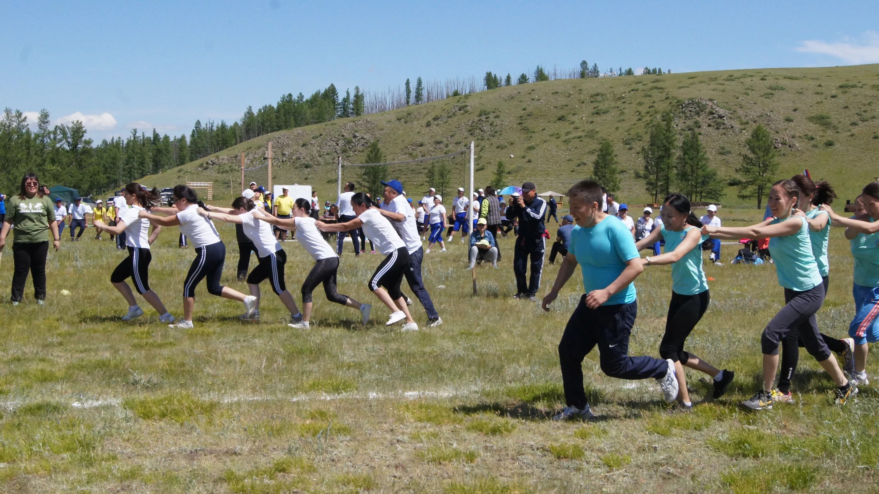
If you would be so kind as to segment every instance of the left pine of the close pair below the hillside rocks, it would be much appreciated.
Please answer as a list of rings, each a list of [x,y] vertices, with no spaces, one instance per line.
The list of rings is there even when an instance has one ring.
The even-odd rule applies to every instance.
[[[642,177],[654,203],[672,189],[673,153],[678,147],[673,120],[672,113],[665,113],[662,120],[655,121],[650,128],[650,142],[641,148],[644,160]]]

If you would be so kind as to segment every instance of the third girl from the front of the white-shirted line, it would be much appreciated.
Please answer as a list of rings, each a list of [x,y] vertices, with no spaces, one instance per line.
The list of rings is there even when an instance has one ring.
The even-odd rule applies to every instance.
[[[252,314],[243,314],[243,321],[259,321],[259,284],[269,280],[272,291],[278,295],[290,311],[292,323],[300,323],[302,315],[296,307],[293,295],[287,291],[284,282],[284,265],[287,264],[287,252],[280,247],[278,239],[272,232],[272,225],[257,220],[256,214],[261,210],[256,204],[245,197],[237,197],[232,201],[232,207],[207,206],[207,209],[198,208],[196,211],[208,220],[220,220],[227,223],[241,225],[244,235],[251,239],[253,246],[257,248],[257,260],[259,264],[253,268],[247,277],[247,287],[251,295],[257,297],[256,308]]]

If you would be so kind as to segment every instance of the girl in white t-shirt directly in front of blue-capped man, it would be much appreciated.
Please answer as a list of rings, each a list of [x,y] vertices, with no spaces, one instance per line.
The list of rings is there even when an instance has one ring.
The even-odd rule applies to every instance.
[[[366,236],[373,241],[375,249],[387,256],[375,268],[372,278],[369,279],[369,289],[391,310],[388,323],[385,325],[389,326],[405,319],[403,331],[418,331],[418,324],[409,314],[406,299],[400,291],[403,274],[409,268],[409,250],[406,248],[406,243],[397,235],[394,226],[381,215],[379,208],[375,207],[366,193],[355,193],[351,198],[351,207],[357,217],[350,222],[337,224],[316,222],[317,229],[337,232],[363,229]]]

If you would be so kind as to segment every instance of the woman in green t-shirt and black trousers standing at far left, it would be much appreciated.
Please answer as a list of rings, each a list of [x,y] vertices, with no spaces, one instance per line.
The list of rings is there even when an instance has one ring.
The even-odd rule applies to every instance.
[[[6,236],[12,225],[12,305],[18,305],[25,295],[27,272],[33,277],[33,296],[42,305],[46,300],[46,256],[49,251],[47,231],[52,230],[55,251],[61,248],[58,223],[54,220],[52,200],[40,192],[40,179],[28,173],[21,179],[21,191],[9,200],[9,210],[0,229],[0,251],[6,246]]]

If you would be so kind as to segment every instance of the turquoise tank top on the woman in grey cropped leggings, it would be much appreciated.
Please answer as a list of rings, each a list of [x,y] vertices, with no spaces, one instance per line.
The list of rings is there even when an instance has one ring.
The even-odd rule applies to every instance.
[[[802,216],[788,216],[784,220],[774,219],[770,224],[781,222],[800,222],[800,229],[793,235],[774,236],[769,239],[769,251],[775,261],[778,284],[797,292],[811,290],[821,284],[821,274],[809,237],[809,222]]]

